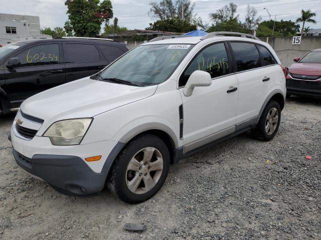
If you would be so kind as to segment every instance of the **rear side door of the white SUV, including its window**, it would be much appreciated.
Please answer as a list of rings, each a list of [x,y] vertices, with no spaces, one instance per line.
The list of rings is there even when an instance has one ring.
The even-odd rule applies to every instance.
[[[255,120],[272,84],[273,71],[266,67],[253,42],[231,41],[239,86],[236,123]]]

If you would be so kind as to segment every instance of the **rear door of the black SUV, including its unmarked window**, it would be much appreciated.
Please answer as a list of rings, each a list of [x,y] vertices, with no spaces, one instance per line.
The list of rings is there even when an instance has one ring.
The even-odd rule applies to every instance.
[[[90,76],[108,65],[95,43],[64,42],[63,47],[67,82]]]

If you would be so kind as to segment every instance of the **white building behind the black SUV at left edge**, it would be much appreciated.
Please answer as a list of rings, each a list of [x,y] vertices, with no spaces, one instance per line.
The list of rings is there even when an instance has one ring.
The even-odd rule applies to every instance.
[[[0,13],[0,44],[37,38],[52,38],[40,33],[39,16]]]

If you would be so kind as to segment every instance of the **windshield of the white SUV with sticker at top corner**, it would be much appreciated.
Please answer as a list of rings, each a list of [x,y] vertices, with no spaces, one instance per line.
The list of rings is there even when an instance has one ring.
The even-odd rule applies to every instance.
[[[155,85],[166,81],[191,44],[152,44],[132,49],[101,74],[100,79],[120,79],[138,86]]]

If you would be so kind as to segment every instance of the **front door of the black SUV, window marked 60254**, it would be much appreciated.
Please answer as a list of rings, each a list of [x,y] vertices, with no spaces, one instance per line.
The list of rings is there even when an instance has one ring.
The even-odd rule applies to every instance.
[[[11,57],[18,57],[21,64],[8,68]],[[19,107],[28,97],[65,83],[61,42],[45,42],[31,45],[8,57],[5,61],[5,91],[11,107]]]

